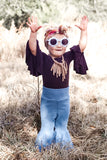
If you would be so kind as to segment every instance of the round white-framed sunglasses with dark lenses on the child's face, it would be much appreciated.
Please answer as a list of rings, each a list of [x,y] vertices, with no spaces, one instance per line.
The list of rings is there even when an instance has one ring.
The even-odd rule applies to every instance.
[[[52,38],[48,39],[47,42],[52,47],[58,45],[58,42],[60,42],[60,44],[63,47],[66,47],[69,44],[69,39],[66,37],[64,37],[62,39],[57,39],[56,37],[52,37]]]

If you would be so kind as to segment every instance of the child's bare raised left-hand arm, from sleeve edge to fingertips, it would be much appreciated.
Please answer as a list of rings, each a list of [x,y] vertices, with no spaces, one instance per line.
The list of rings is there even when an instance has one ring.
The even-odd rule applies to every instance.
[[[41,26],[38,27],[37,18],[34,18],[33,16],[31,18],[30,17],[28,18],[28,22],[26,24],[31,29],[30,38],[29,38],[29,47],[32,54],[36,56],[37,31],[41,28]]]

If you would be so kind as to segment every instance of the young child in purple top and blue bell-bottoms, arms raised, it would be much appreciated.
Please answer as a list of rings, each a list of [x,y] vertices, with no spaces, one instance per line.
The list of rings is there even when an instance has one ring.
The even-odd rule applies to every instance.
[[[84,49],[87,44],[88,19],[81,20],[79,45],[73,46],[68,52],[67,30],[63,26],[46,31],[44,43],[49,51],[45,54],[39,48],[37,31],[41,28],[37,18],[29,18],[27,25],[31,29],[26,46],[26,63],[33,76],[42,75],[43,91],[41,97],[41,130],[37,135],[35,146],[48,147],[52,143],[73,148],[67,123],[70,113],[69,99],[69,65],[74,61],[74,70],[78,74],[86,74],[87,64]]]

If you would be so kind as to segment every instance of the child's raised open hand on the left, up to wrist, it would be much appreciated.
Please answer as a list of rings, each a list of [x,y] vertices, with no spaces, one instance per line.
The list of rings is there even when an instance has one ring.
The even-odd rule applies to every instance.
[[[31,29],[31,32],[36,33],[42,26],[38,27],[37,24],[37,18],[34,18],[33,16],[28,18],[28,22],[26,22],[28,27]]]

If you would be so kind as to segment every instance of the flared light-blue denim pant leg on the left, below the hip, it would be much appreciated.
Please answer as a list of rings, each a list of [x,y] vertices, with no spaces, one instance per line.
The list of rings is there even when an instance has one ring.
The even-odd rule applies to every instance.
[[[52,144],[55,139],[55,118],[57,114],[56,102],[49,99],[41,98],[41,130],[37,135],[35,145],[46,147]]]

